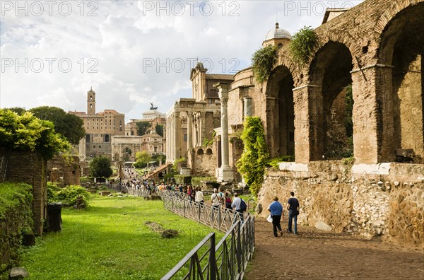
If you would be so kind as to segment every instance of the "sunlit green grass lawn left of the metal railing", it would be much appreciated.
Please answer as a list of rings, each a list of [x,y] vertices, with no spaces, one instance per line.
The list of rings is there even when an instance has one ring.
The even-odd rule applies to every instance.
[[[62,231],[24,250],[30,279],[160,279],[210,228],[179,217],[161,201],[96,197],[86,210],[62,209]],[[179,231],[165,239],[146,221]],[[223,233],[217,233],[217,243]]]

